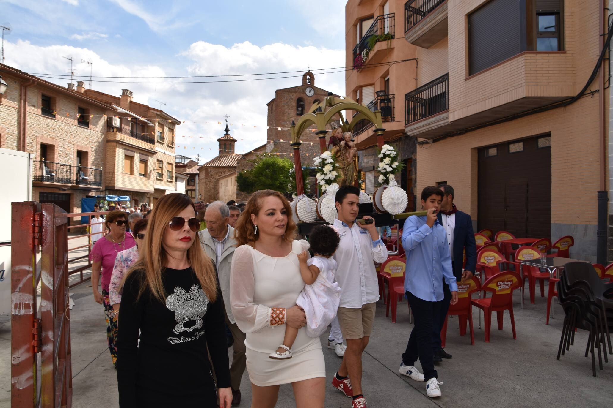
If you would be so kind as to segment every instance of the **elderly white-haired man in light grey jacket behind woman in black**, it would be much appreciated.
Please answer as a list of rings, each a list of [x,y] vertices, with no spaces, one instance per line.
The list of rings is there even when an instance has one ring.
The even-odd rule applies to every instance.
[[[204,214],[207,229],[200,231],[199,234],[202,247],[215,261],[221,288],[220,300],[225,306],[226,324],[234,337],[230,383],[232,385],[232,405],[235,406],[240,404],[240,380],[245,372],[247,358],[245,356],[245,333],[238,328],[230,308],[230,265],[232,265],[232,254],[234,254],[237,242],[234,239],[234,228],[228,224],[229,217],[230,209],[225,202],[211,202]]]

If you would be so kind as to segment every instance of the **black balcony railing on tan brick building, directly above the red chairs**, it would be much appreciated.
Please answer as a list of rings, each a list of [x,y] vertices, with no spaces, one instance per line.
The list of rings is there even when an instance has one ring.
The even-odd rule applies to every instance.
[[[405,125],[449,109],[449,73],[405,95]]]

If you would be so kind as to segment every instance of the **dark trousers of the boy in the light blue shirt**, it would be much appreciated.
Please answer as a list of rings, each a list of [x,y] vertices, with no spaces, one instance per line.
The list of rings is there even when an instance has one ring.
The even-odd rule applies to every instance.
[[[427,381],[438,376],[434,369],[432,330],[440,316],[443,300],[428,302],[427,300],[419,299],[419,297],[414,296],[409,291],[405,294],[413,311],[415,325],[406,344],[406,351],[402,354],[402,362],[404,365],[412,366],[415,365],[419,357],[422,371],[424,371],[424,380]]]

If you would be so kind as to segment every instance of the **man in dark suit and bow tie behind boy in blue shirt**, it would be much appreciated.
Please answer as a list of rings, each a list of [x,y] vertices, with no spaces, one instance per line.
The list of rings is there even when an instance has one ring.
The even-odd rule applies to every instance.
[[[449,243],[449,253],[451,253],[451,267],[454,272],[455,280],[461,281],[473,276],[474,268],[477,264],[477,245],[474,242],[473,220],[470,215],[458,210],[454,204],[455,191],[451,185],[441,185],[444,198],[441,202],[441,210],[438,213],[438,222],[441,223],[447,232],[447,242]],[[466,267],[462,271],[463,253],[466,250]],[[443,282],[444,299],[441,305],[441,314],[438,322],[434,324],[432,333],[432,346],[434,348],[434,361],[441,362],[443,358],[451,358],[451,354],[444,351],[441,347],[441,329],[449,310],[451,292],[449,286]]]

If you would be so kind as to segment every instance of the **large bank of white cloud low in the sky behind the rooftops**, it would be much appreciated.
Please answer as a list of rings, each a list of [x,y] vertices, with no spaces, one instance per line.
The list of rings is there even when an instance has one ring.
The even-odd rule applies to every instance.
[[[106,76],[176,76],[176,75],[238,75],[262,72],[286,72],[278,76],[292,76],[270,80],[255,80],[253,76],[219,77],[219,78],[187,78],[185,82],[194,81],[224,81],[245,80],[242,82],[201,83],[201,84],[155,84],[150,79],[134,79],[128,81],[150,82],[148,84],[124,83],[93,83],[97,91],[112,95],[120,95],[121,89],[129,88],[134,92],[134,100],[159,107],[155,100],[166,103],[162,109],[180,121],[185,121],[177,129],[177,154],[192,156],[200,154],[201,161],[207,161],[218,154],[216,139],[223,135],[225,122],[223,116],[230,116],[230,133],[238,140],[237,152],[247,152],[266,143],[267,139],[267,106],[275,97],[275,89],[297,86],[302,83],[302,73],[311,69],[342,67],[345,65],[343,50],[329,50],[316,46],[294,46],[284,43],[274,43],[265,46],[253,45],[249,42],[237,43],[226,47],[207,42],[196,42],[188,50],[181,53],[182,67],[176,72],[167,72],[158,65],[140,64],[126,66],[107,61],[88,48],[68,45],[38,46],[30,42],[5,42],[7,65],[25,72],[37,73],[68,73],[69,65],[62,56],[72,56],[76,61],[91,59],[93,75]],[[191,61],[185,70],[185,59]],[[75,64],[79,75],[87,76],[89,67],[86,64]],[[315,73],[315,85],[344,94],[345,73],[322,74]],[[65,80],[52,80],[66,85]],[[88,81],[88,78],[80,78]],[[105,79],[105,78],[99,78]],[[94,78],[96,80],[96,78]],[[109,78],[110,81],[121,79]],[[175,80],[159,80],[175,81]],[[288,118],[289,120],[290,118]],[[208,122],[208,123],[207,123]],[[218,122],[222,122],[218,124]],[[182,137],[185,136],[185,137]],[[192,137],[189,137],[192,136]],[[185,149],[183,146],[187,147]]]

